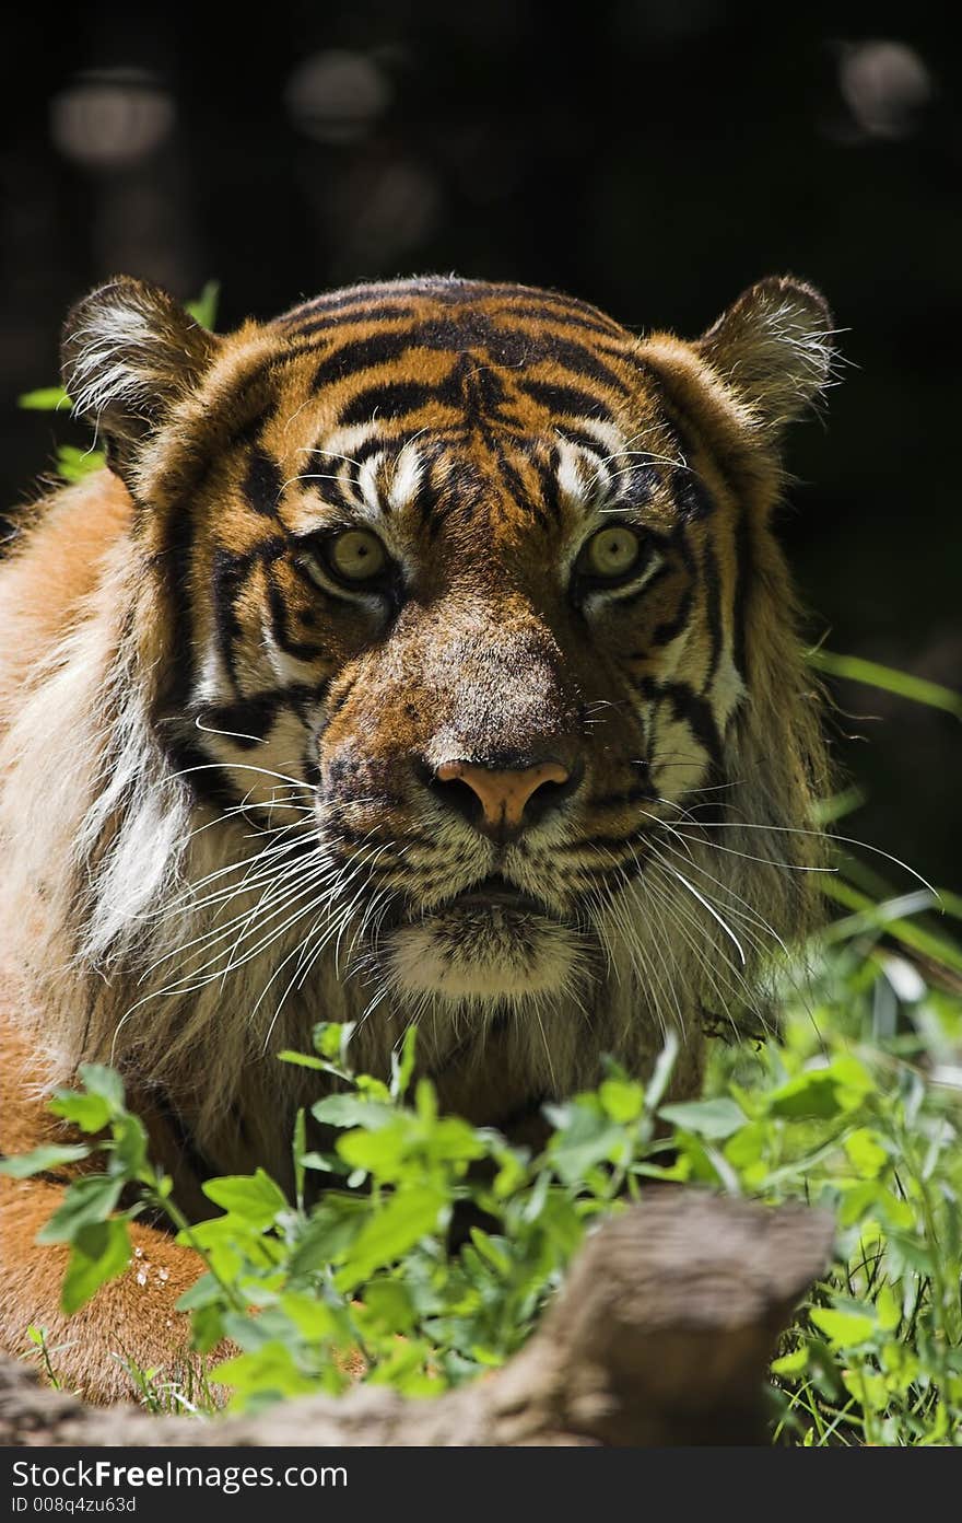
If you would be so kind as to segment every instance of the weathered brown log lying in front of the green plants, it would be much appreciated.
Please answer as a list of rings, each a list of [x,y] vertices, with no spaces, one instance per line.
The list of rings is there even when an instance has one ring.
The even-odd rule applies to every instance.
[[[805,1206],[662,1189],[589,1237],[504,1369],[434,1401],[368,1386],[256,1416],[151,1416],[85,1407],[8,1359],[0,1444],[764,1444],[767,1363],[823,1273],[833,1232],[827,1212]]]

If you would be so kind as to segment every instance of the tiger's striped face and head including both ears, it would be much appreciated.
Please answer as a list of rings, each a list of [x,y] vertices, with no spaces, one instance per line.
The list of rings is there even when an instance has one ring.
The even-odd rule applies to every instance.
[[[769,518],[825,326],[790,280],[696,344],[444,279],[227,338],[135,282],[76,309],[65,382],[157,594],[151,723],[274,853],[301,982],[333,955],[359,1008],[591,1010],[702,934],[686,824],[798,685]]]

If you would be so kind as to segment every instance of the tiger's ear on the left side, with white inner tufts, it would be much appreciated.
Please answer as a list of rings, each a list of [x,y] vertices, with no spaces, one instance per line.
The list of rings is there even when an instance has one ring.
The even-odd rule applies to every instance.
[[[105,436],[123,475],[137,445],[198,384],[218,340],[174,297],[119,276],[73,308],[61,341],[61,376],[79,417]]]

